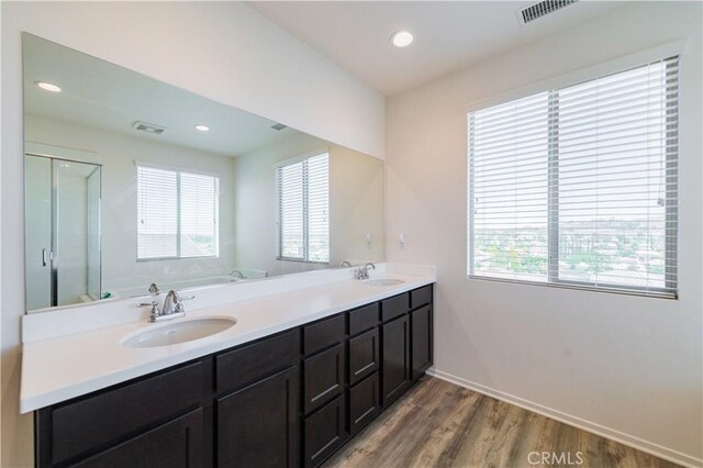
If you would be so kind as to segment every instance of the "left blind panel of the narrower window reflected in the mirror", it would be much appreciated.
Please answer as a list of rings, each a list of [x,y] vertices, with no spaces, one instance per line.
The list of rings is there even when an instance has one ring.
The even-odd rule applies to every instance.
[[[277,169],[278,178],[278,256],[305,258],[303,161]]]

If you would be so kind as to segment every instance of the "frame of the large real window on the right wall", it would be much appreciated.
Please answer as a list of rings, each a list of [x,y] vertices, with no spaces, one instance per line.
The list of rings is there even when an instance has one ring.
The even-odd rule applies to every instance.
[[[658,298],[658,299],[673,299],[678,300],[680,294],[680,287],[678,281],[678,270],[679,270],[679,200],[678,200],[678,190],[680,186],[680,171],[678,170],[678,161],[679,155],[678,151],[673,152],[670,147],[667,147],[666,152],[666,180],[669,180],[670,177],[676,177],[676,183],[671,187],[669,183],[666,185],[666,207],[665,207],[665,220],[666,227],[665,232],[673,229],[676,231],[676,237],[666,238],[666,248],[665,248],[665,288],[652,288],[652,287],[637,287],[629,285],[617,285],[617,283],[607,283],[607,282],[589,282],[589,281],[577,281],[577,280],[568,280],[568,279],[559,279],[559,156],[558,156],[558,140],[555,141],[553,135],[558,134],[558,105],[559,105],[559,90],[563,88],[568,88],[571,86],[577,86],[579,83],[592,81],[599,78],[603,78],[610,75],[616,75],[620,73],[625,73],[627,70],[638,68],[645,66],[650,63],[655,63],[658,60],[667,60],[673,57],[678,58],[678,87],[680,94],[680,83],[681,83],[681,63],[683,60],[683,48],[684,43],[681,41],[668,43],[661,45],[659,47],[655,47],[648,51],[644,51],[637,54],[632,54],[626,57],[621,57],[620,59],[611,60],[605,64],[601,64],[595,67],[589,67],[582,70],[578,70],[572,74],[563,75],[550,80],[543,81],[537,85],[532,85],[525,87],[523,89],[512,91],[509,93],[504,93],[496,98],[484,99],[477,101],[470,105],[465,107],[465,112],[467,115],[466,121],[466,141],[467,141],[467,279],[468,280],[484,280],[484,281],[498,281],[498,282],[507,282],[507,283],[521,283],[521,285],[533,285],[533,286],[544,286],[551,288],[566,288],[566,289],[577,289],[577,290],[585,290],[592,292],[606,292],[606,293],[618,293],[625,296],[638,296],[638,297],[648,297],[648,298]],[[668,64],[667,66],[671,66]],[[516,101],[520,99],[526,99],[542,92],[548,93],[548,152],[547,152],[547,274],[545,275],[545,281],[535,281],[527,279],[515,279],[515,278],[500,278],[500,277],[490,277],[482,275],[475,275],[475,252],[473,252],[473,224],[475,216],[472,210],[472,200],[475,200],[475,168],[473,160],[471,158],[471,152],[473,147],[473,138],[470,132],[471,120],[473,118],[472,112],[479,111],[482,109],[491,108],[494,105],[500,105],[504,103],[509,103],[512,101]],[[679,96],[680,101],[680,96]],[[553,116],[556,114],[556,119]],[[680,113],[679,109],[677,109],[676,113],[676,129],[673,131],[667,130],[665,138],[669,140],[671,134],[676,135],[678,141],[678,134],[680,129]],[[678,145],[677,145],[678,147]],[[672,167],[672,164],[673,167]],[[672,201],[673,200],[673,201]],[[673,215],[673,216],[672,216]],[[673,221],[672,221],[673,219]],[[671,226],[673,224],[673,226]],[[674,274],[670,271],[673,269]]]

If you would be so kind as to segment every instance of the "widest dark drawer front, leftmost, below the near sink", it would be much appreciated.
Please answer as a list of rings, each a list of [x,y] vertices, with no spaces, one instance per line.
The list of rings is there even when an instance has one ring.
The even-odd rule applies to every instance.
[[[52,411],[52,463],[69,460],[92,447],[110,446],[200,404],[201,361],[158,374]]]

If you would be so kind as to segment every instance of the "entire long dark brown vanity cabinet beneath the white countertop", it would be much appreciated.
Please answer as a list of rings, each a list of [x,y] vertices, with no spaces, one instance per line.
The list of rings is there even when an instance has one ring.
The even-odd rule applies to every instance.
[[[432,365],[422,287],[35,412],[38,467],[316,467]]]

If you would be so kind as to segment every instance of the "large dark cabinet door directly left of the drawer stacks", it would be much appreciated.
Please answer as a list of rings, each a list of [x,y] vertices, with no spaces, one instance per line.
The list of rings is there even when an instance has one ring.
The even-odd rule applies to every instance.
[[[217,400],[217,466],[298,466],[298,368]]]

